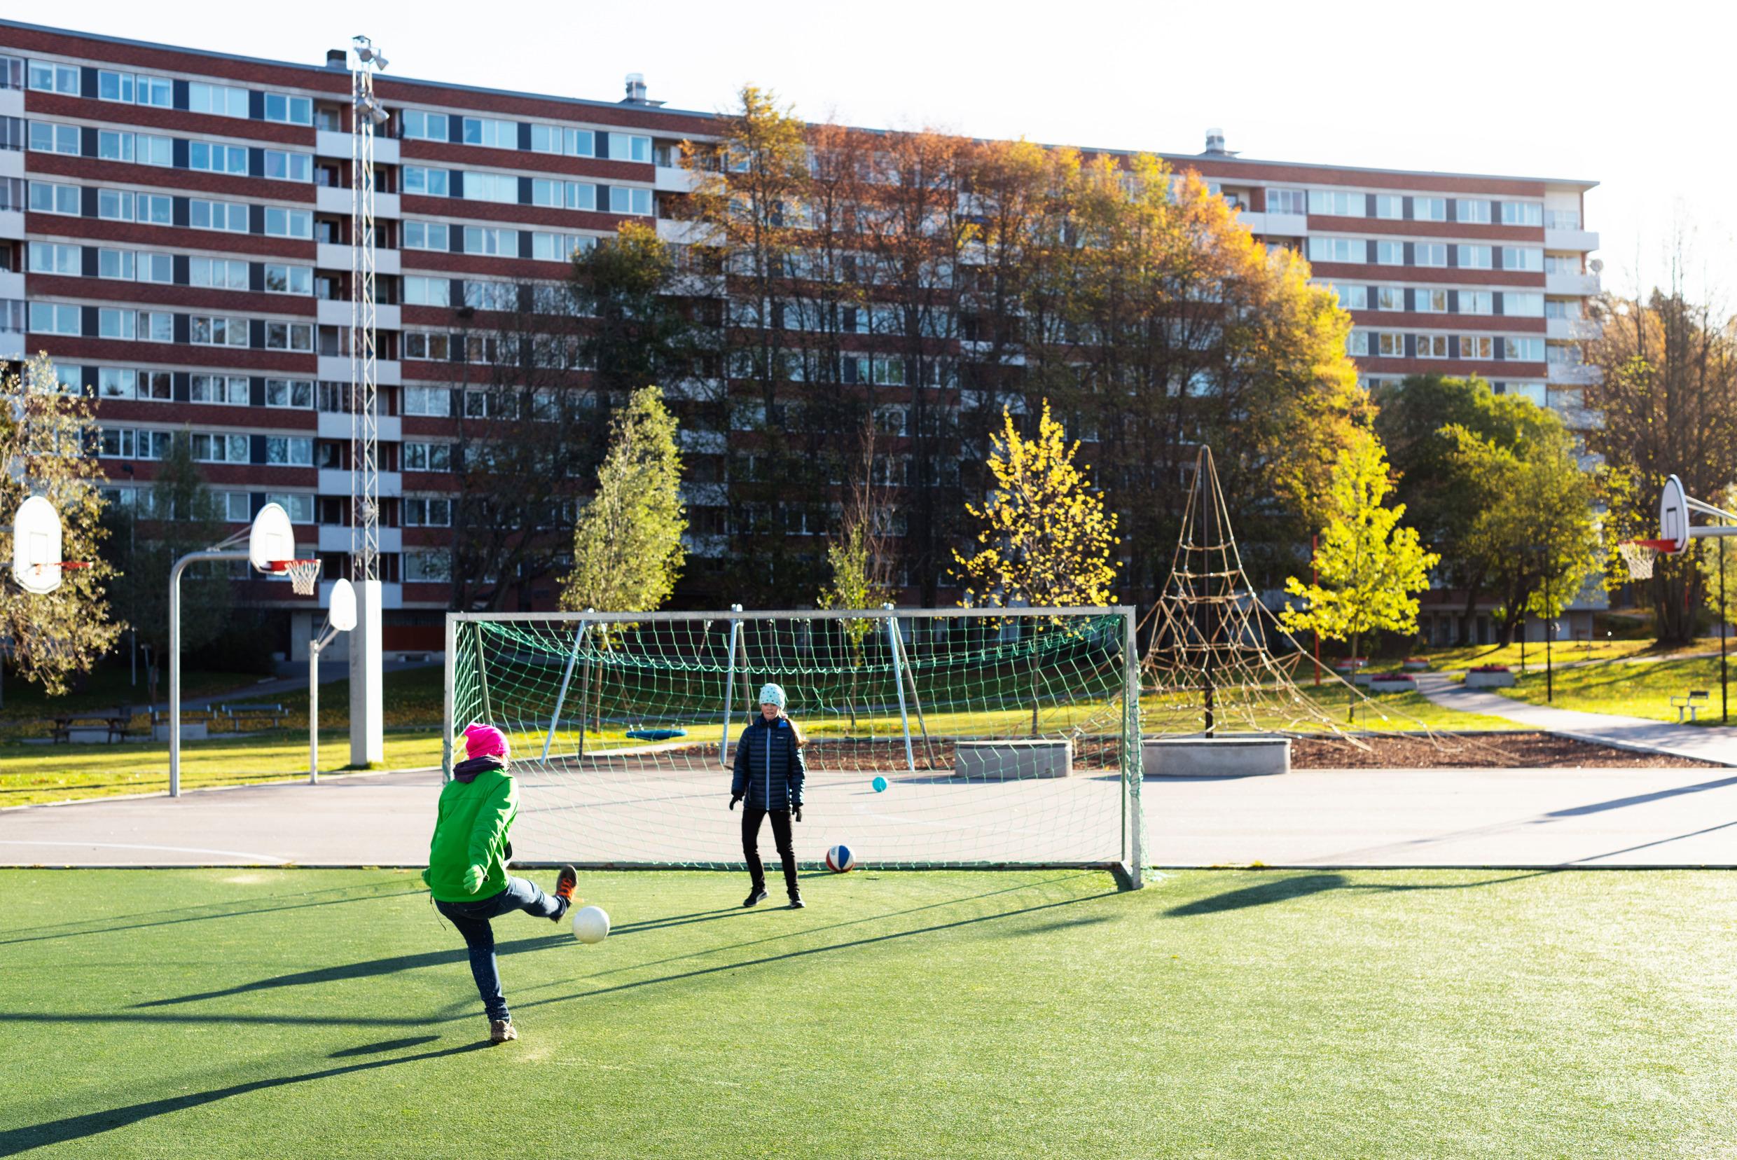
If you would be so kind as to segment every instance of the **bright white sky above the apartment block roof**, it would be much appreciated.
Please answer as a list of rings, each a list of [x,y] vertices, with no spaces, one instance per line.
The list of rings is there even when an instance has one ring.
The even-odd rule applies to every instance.
[[[367,33],[393,73],[604,101],[636,71],[681,109],[728,109],[754,83],[809,120],[875,129],[1197,153],[1223,127],[1251,158],[1588,179],[1607,288],[1668,280],[1681,236],[1690,290],[1737,300],[1728,5],[82,0],[0,12],[309,64]]]

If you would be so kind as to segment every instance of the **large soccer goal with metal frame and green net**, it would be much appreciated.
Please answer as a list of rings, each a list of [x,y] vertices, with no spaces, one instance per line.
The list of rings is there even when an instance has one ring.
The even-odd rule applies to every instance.
[[[740,867],[731,762],[766,682],[806,736],[804,865],[846,844],[1139,884],[1131,608],[452,613],[445,766],[472,721],[507,731],[519,860]]]

